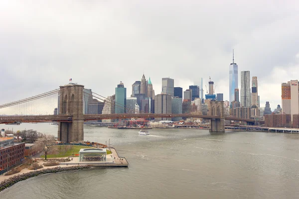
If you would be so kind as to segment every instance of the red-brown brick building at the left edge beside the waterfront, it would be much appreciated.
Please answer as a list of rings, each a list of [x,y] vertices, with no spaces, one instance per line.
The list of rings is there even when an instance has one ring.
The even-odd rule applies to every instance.
[[[0,138],[0,170],[24,159],[25,143],[13,142],[13,137]]]

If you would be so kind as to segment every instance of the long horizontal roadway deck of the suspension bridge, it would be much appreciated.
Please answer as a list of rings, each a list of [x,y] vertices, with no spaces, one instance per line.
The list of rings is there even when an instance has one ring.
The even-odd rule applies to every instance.
[[[220,116],[216,115],[197,115],[197,114],[158,114],[158,113],[140,113],[140,114],[86,114],[83,115],[84,121],[99,120],[99,119],[126,119],[126,118],[171,118],[171,117],[196,117],[203,119],[220,119]],[[247,121],[254,122],[253,119],[244,119],[227,116],[226,120],[234,121]],[[13,123],[13,122],[72,122],[72,115],[14,115],[3,116],[0,115],[0,123]]]

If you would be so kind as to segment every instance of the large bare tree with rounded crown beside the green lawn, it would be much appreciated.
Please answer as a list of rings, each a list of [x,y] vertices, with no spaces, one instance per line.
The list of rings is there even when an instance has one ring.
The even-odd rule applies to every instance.
[[[35,141],[37,147],[40,151],[43,151],[45,154],[45,160],[47,159],[47,154],[51,153],[55,150],[56,147],[52,147],[56,145],[55,137],[53,135],[44,134],[42,137],[38,138]]]

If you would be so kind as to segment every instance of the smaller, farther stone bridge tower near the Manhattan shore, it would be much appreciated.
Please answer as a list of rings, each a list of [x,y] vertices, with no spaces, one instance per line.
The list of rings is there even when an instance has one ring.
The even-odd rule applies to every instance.
[[[220,119],[211,119],[210,132],[225,132],[224,101],[210,101],[210,115],[220,116]]]

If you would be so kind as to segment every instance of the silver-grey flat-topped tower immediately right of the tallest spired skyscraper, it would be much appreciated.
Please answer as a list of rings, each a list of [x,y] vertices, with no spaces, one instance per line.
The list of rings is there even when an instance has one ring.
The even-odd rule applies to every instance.
[[[241,106],[251,107],[250,71],[241,71]]]

